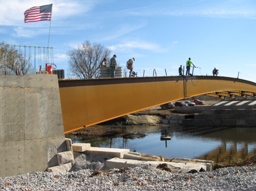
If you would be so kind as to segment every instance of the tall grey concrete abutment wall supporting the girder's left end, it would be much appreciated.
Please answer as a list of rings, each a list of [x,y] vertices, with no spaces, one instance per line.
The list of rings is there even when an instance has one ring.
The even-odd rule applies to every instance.
[[[0,76],[0,177],[46,171],[66,150],[57,75]]]

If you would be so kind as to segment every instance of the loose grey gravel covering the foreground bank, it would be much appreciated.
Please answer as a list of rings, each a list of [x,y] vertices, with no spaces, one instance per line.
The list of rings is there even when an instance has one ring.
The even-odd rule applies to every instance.
[[[74,152],[71,172],[0,178],[2,191],[256,191],[256,166],[175,174],[153,166],[104,171],[106,157]]]

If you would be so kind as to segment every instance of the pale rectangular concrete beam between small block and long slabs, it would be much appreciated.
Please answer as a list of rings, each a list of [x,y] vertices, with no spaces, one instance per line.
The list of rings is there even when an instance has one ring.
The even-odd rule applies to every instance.
[[[85,153],[123,158],[123,155],[128,152],[130,152],[130,149],[91,147]]]

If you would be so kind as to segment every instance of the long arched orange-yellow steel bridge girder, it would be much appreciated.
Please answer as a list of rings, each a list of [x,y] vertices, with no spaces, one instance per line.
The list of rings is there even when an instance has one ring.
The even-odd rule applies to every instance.
[[[223,76],[160,76],[59,80],[68,133],[191,96],[256,97],[256,83]]]

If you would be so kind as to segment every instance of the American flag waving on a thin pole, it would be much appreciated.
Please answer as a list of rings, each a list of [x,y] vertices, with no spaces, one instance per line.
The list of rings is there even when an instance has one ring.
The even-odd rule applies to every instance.
[[[27,9],[24,12],[25,23],[37,22],[42,20],[51,20],[52,6],[53,4],[43,5],[43,6],[33,6],[32,8]]]

